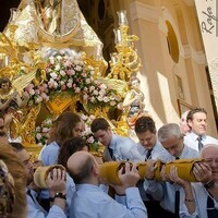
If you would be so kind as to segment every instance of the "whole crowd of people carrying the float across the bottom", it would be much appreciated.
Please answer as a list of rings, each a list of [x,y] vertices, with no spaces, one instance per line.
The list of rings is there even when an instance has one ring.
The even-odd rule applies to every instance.
[[[0,217],[218,217],[218,140],[206,133],[205,109],[192,109],[180,124],[167,123],[158,130],[153,118],[141,116],[134,124],[137,143],[113,133],[105,118],[93,120],[90,130],[105,146],[102,162],[125,162],[118,171],[120,184],[101,178],[102,162],[89,153],[84,129],[78,114],[61,113],[48,144],[33,161],[21,143],[9,143],[0,117]],[[175,165],[169,171],[162,167],[161,181],[156,180],[158,161],[195,158],[202,158],[192,169],[195,182],[179,177]],[[142,161],[147,166],[145,178],[138,172]],[[47,173],[47,189],[37,186],[35,169],[55,165],[63,168]]]

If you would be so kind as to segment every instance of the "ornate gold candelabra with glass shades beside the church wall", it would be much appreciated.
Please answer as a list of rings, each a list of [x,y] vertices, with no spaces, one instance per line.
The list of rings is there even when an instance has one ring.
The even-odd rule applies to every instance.
[[[108,77],[129,81],[131,75],[138,72],[142,66],[137,50],[134,48],[134,41],[140,38],[135,35],[129,35],[126,12],[118,11],[118,16],[119,27],[113,31],[117,52],[110,55],[111,71]]]

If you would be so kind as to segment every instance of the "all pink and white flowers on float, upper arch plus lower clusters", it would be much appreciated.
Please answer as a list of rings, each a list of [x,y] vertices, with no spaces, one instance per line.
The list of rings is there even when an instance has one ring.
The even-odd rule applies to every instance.
[[[72,56],[64,51],[51,55],[47,58],[46,68],[38,69],[37,76],[44,80],[38,80],[40,83],[36,84],[32,82],[24,90],[29,95],[29,107],[43,102],[48,107],[57,96],[59,99],[62,96],[64,98],[62,94],[78,99],[87,113],[99,107],[117,108],[122,101],[117,90],[100,82],[95,75],[95,69],[78,55]],[[90,144],[90,149],[97,150],[99,144],[89,129],[92,116],[82,114],[82,119],[86,125],[83,137]],[[36,128],[35,138],[38,145],[47,143],[52,122],[48,118]]]

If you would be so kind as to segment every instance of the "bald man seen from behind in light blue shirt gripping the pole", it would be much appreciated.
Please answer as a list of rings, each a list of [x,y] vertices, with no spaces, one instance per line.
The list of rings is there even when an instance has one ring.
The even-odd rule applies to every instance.
[[[146,208],[135,187],[140,179],[136,164],[132,168],[125,164],[119,170],[120,185],[113,185],[114,199],[100,187],[100,167],[93,155],[81,150],[74,153],[68,160],[68,169],[76,184],[76,192],[71,201],[70,217],[119,217],[147,218]]]

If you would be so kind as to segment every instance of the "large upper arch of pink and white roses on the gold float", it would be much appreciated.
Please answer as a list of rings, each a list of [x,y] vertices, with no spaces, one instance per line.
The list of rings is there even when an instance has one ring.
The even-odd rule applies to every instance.
[[[45,69],[46,80],[40,85],[31,83],[25,88],[29,95],[28,106],[47,102],[57,93],[68,92],[72,96],[78,95],[82,102],[90,108],[117,107],[121,97],[94,76],[94,68],[86,65],[78,56],[60,52],[49,57]]]

